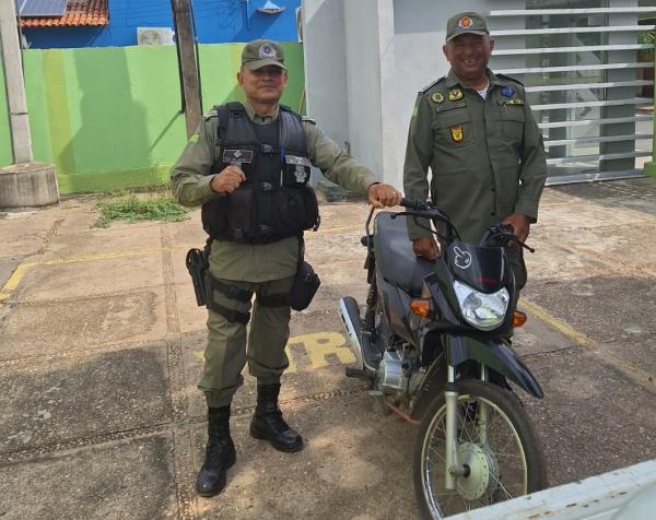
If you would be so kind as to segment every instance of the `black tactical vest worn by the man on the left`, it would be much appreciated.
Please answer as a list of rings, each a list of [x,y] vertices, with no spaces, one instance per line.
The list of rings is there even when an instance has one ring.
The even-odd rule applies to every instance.
[[[202,206],[202,226],[212,238],[269,244],[316,229],[319,210],[309,180],[301,116],[280,106],[269,125],[255,125],[239,103],[216,107],[219,159],[211,175],[234,164],[246,180],[232,193]]]

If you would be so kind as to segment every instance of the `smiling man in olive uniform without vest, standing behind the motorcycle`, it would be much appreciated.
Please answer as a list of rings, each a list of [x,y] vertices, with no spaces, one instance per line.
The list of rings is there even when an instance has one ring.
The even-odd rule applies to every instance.
[[[446,211],[460,237],[478,241],[500,221],[526,240],[547,178],[542,137],[524,85],[488,69],[494,42],[483,16],[452,16],[443,47],[450,70],[419,93],[408,135],[406,197],[431,199]],[[438,246],[408,221],[418,256],[434,260]],[[522,248],[509,248],[518,288],[526,284]]]

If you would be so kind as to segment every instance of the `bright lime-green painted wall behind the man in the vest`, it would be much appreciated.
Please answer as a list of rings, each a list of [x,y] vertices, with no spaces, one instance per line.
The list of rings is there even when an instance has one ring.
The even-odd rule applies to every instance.
[[[283,47],[290,82],[282,103],[298,109],[303,50],[294,43]],[[236,83],[242,48],[200,46],[206,111],[243,99]],[[168,181],[186,143],[175,47],[26,50],[24,63],[35,161],[57,166],[62,193]],[[5,129],[0,122],[0,139],[9,137]],[[0,166],[11,163],[3,142]]]

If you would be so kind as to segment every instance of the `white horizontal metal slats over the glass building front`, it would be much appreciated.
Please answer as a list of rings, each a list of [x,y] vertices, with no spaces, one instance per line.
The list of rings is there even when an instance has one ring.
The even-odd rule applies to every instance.
[[[639,43],[639,34],[656,25],[639,19],[648,16],[656,9],[635,0],[527,0],[526,9],[489,12],[490,68],[526,85],[548,184],[643,175],[652,156],[654,44]]]

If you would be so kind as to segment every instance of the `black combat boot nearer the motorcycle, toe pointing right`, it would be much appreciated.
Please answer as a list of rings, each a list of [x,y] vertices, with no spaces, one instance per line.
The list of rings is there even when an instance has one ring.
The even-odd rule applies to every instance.
[[[303,437],[289,427],[278,407],[280,383],[257,386],[257,407],[250,422],[250,435],[268,440],[280,451],[301,451]]]

